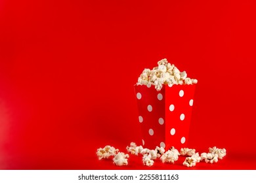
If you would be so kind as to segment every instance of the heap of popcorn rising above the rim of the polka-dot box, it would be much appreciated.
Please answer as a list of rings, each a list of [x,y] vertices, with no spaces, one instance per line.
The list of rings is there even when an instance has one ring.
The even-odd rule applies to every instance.
[[[173,84],[196,84],[198,80],[187,77],[186,71],[179,71],[174,64],[168,63],[167,59],[158,61],[158,67],[152,70],[144,69],[138,78],[137,85],[154,85],[156,90],[160,91],[163,84],[169,87]]]

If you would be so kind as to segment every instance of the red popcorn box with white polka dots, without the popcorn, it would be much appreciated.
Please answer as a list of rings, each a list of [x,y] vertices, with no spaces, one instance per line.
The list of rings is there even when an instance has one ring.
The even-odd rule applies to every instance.
[[[164,85],[157,91],[154,86],[135,85],[144,148],[187,146],[195,88]]]

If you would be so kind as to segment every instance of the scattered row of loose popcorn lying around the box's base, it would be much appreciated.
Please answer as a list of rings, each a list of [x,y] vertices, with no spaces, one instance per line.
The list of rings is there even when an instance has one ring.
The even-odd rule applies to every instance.
[[[156,146],[156,149],[150,150],[148,148],[143,148],[142,146],[137,146],[135,142],[131,142],[130,146],[127,146],[127,152],[135,156],[142,156],[142,163],[148,167],[154,165],[154,160],[160,159],[162,163],[175,163],[179,159],[179,156],[187,156],[182,163],[186,167],[194,167],[196,163],[200,161],[205,161],[205,163],[217,163],[219,159],[223,159],[226,156],[226,149],[209,148],[209,152],[203,152],[199,155],[195,149],[181,148],[177,150],[171,147],[169,150],[165,151],[163,147]],[[128,165],[129,154],[119,152],[118,149],[113,146],[105,146],[104,148],[98,148],[96,155],[98,159],[108,159],[110,156],[114,156],[113,163],[117,166]]]

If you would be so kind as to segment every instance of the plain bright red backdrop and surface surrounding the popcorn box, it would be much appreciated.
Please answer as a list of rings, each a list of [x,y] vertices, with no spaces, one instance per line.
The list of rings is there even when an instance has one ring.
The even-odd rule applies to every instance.
[[[0,1],[0,169],[187,169],[98,161],[140,144],[133,84],[167,58],[199,80],[190,147],[255,169],[255,1]]]

